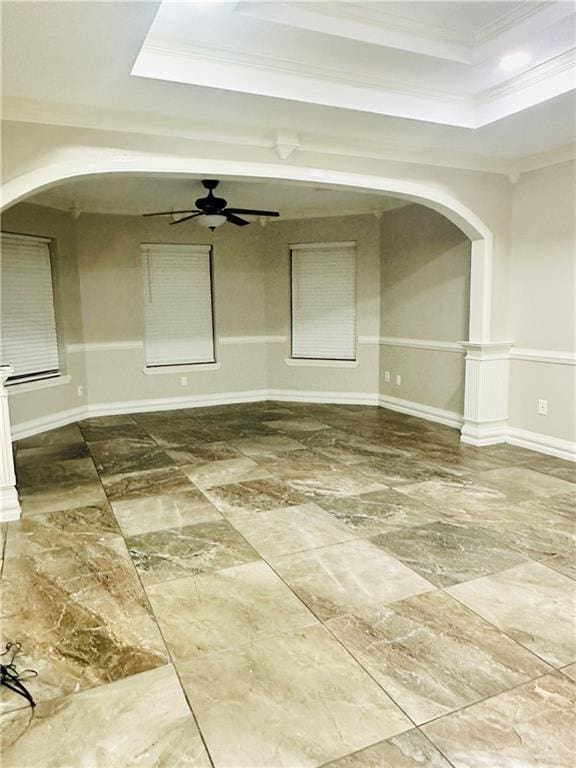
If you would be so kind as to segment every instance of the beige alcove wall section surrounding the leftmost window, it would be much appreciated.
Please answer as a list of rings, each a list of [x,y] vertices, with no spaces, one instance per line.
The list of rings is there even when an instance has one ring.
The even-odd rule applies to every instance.
[[[60,367],[70,381],[45,389],[19,385],[10,389],[13,423],[41,419],[86,403],[86,373],[82,354],[68,354],[68,345],[83,339],[76,230],[69,214],[21,203],[2,214],[2,231],[53,238],[50,246],[52,280],[59,338]],[[33,385],[32,385],[33,386]],[[83,394],[78,395],[78,387]]]

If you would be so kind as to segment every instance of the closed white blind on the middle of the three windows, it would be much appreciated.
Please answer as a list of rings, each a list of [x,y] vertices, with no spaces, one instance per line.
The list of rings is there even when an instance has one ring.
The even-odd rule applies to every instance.
[[[208,245],[142,246],[146,364],[214,362]]]

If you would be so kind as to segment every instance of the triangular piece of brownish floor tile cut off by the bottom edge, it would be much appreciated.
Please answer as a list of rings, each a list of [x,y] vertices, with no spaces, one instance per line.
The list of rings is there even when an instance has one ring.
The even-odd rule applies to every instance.
[[[416,728],[324,768],[452,768],[446,758]]]

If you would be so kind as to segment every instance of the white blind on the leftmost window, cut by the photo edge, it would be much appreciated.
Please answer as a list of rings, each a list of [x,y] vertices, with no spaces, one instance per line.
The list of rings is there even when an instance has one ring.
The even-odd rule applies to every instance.
[[[48,241],[2,234],[0,244],[0,360],[12,379],[58,373]]]

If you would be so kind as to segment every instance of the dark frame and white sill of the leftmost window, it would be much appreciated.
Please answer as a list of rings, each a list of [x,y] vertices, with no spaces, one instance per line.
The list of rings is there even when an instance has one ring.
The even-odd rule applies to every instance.
[[[65,358],[63,354],[64,339],[61,333],[60,322],[60,309],[59,309],[59,286],[57,280],[57,267],[55,266],[55,253],[57,252],[56,238],[47,237],[46,235],[31,235],[23,232],[10,232],[7,229],[0,230],[0,237],[5,235],[12,238],[12,240],[35,240],[37,243],[45,243],[48,247],[48,261],[50,265],[50,283],[52,288],[52,310],[54,312],[54,326],[56,330],[56,354],[58,357],[58,368],[51,370],[36,371],[34,373],[20,374],[16,376],[9,376],[4,382],[5,387],[11,387],[13,392],[21,391],[25,392],[28,389],[43,389],[47,387],[56,386],[57,384],[68,384],[70,376],[66,372]],[[1,263],[0,263],[1,268]],[[52,383],[52,380],[58,379],[58,381]],[[51,382],[51,383],[48,383]],[[30,386],[32,384],[38,384],[39,386]],[[26,386],[26,389],[24,387]],[[18,390],[15,389],[18,387]]]

